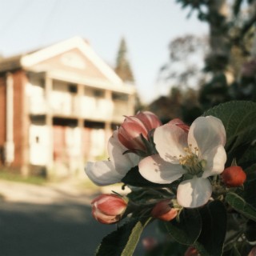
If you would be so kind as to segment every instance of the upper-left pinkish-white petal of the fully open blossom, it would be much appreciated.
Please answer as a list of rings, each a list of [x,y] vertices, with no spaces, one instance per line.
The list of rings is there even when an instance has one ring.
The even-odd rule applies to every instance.
[[[185,155],[184,147],[187,147],[187,133],[182,128],[167,123],[154,131],[154,143],[162,159],[167,162],[178,163],[179,155]]]

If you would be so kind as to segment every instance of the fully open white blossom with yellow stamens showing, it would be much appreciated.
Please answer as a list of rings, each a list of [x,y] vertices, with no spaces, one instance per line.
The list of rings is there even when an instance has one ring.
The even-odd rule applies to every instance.
[[[187,133],[172,123],[154,132],[158,154],[142,159],[139,172],[150,182],[168,184],[178,178],[177,200],[184,207],[198,207],[210,199],[208,177],[221,174],[226,162],[226,131],[218,118],[200,117]]]

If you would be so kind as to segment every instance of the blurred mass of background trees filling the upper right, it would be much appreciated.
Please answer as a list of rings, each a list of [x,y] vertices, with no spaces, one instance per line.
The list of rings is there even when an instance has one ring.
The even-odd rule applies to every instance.
[[[159,86],[177,88],[182,101],[173,102],[170,94],[149,106],[166,118],[178,117],[190,123],[212,106],[230,100],[256,101],[256,1],[178,0],[188,16],[196,13],[207,22],[209,35],[185,35],[169,45],[169,62],[159,71]],[[189,20],[188,20],[189,22]],[[196,98],[190,102],[193,88]],[[164,99],[162,101],[161,99]],[[163,104],[165,102],[165,104]],[[192,110],[192,112],[191,112]],[[165,119],[165,117],[162,117]]]

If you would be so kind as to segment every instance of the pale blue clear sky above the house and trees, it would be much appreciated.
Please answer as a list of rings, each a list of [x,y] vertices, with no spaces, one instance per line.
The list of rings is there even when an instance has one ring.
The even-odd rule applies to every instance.
[[[168,43],[184,34],[206,34],[208,26],[174,0],[0,0],[0,53],[20,54],[81,36],[114,66],[126,38],[138,93],[150,102],[161,92],[158,70]]]

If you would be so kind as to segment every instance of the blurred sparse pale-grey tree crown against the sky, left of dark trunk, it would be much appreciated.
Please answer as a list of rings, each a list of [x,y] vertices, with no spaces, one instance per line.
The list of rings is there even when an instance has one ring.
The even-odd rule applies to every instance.
[[[205,79],[203,62],[208,51],[206,36],[188,34],[174,38],[169,44],[169,61],[160,68],[159,82],[180,89],[195,87]]]

